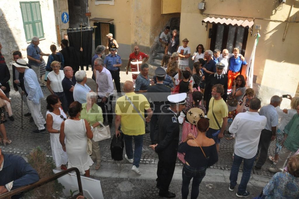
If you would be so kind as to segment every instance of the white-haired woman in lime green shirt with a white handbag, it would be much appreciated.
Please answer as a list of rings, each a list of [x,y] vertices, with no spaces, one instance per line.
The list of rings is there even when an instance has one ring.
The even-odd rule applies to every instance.
[[[97,105],[97,94],[94,92],[90,92],[87,94],[87,102],[82,104],[82,110],[80,112],[80,119],[85,119],[89,126],[92,129],[99,126],[99,122],[103,122],[103,113],[102,108]],[[95,166],[95,170],[100,168],[101,162],[101,153],[99,142],[92,142],[92,154],[91,159],[92,161],[97,161],[97,165]]]

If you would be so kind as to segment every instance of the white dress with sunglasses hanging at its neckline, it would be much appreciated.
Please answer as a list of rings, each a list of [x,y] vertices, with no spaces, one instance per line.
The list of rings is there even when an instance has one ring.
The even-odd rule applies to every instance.
[[[65,113],[62,111],[61,108],[60,115],[66,118]],[[63,122],[63,119],[60,115],[56,115],[53,112],[47,111],[46,115],[51,114],[53,117],[53,125],[52,128],[55,130],[60,130],[60,125]],[[52,156],[55,162],[56,167],[60,167],[61,165],[66,165],[68,163],[68,156],[65,151],[63,151],[62,146],[59,141],[59,133],[50,133],[50,142],[51,142],[51,150]]]

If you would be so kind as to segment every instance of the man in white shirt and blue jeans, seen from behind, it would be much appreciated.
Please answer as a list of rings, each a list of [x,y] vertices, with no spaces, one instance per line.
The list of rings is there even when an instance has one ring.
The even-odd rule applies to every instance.
[[[252,166],[257,154],[257,146],[260,140],[261,131],[265,128],[267,118],[257,112],[261,107],[258,98],[250,100],[249,111],[236,115],[233,123],[229,127],[229,132],[236,134],[234,147],[234,161],[229,177],[230,185],[228,190],[234,191],[237,185],[239,167],[244,160],[243,175],[236,195],[238,197],[249,197],[246,191],[247,183],[250,178]]]

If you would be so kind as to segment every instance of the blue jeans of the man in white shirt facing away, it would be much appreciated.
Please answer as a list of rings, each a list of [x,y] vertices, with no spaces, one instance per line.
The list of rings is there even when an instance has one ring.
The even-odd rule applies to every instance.
[[[243,194],[246,192],[246,187],[247,187],[247,183],[249,181],[250,175],[251,175],[251,170],[252,170],[252,166],[254,164],[255,156],[250,159],[246,159],[246,158],[237,156],[234,153],[234,161],[233,161],[233,165],[231,166],[231,175],[229,176],[229,180],[231,181],[231,186],[237,185],[239,168],[240,168],[240,165],[241,165],[243,159],[244,159],[243,174],[242,174],[241,182],[238,187],[239,194]]]

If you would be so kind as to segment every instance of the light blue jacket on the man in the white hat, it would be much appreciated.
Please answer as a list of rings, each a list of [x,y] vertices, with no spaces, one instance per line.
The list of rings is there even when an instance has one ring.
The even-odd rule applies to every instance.
[[[34,104],[39,104],[39,99],[43,98],[42,89],[37,80],[36,73],[30,68],[26,68],[24,72],[24,86],[28,99]]]

